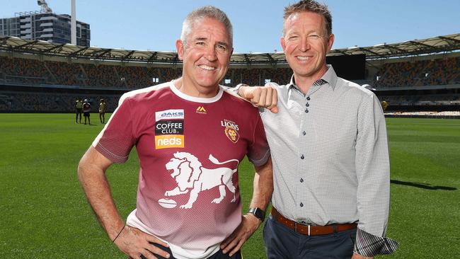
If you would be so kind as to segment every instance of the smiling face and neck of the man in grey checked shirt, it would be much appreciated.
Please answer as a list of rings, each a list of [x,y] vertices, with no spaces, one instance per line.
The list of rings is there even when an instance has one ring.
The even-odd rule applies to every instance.
[[[293,13],[284,21],[281,46],[297,84],[313,84],[326,73],[326,54],[334,35],[326,33],[325,19],[309,11]]]

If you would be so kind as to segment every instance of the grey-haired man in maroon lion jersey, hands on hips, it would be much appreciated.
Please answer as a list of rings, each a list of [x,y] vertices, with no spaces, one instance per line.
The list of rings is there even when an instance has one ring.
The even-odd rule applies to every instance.
[[[192,11],[176,41],[179,79],[120,98],[79,163],[79,180],[110,239],[131,258],[241,258],[265,217],[272,166],[258,110],[224,91],[232,28],[214,6]],[[122,221],[105,171],[127,161],[140,171],[136,209]],[[238,164],[255,166],[253,199],[241,215]]]

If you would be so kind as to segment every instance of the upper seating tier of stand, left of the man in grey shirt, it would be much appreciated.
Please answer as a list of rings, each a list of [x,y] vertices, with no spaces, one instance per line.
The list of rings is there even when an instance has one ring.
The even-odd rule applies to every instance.
[[[120,67],[105,64],[75,64],[66,62],[40,62],[33,59],[0,57],[0,70],[5,81],[23,84],[53,84],[61,86],[88,86],[92,88],[137,89],[176,79],[181,69],[168,67]],[[289,68],[229,69],[226,79],[231,84],[264,85],[265,80],[289,81]],[[158,82],[152,79],[159,79]],[[236,84],[234,84],[236,82]],[[223,82],[223,84],[225,84]]]

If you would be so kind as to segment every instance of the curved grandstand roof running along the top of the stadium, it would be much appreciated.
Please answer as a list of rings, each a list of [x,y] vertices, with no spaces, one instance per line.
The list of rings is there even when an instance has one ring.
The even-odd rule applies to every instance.
[[[347,47],[331,50],[329,56],[366,54],[366,59],[408,57],[422,54],[455,52],[460,50],[460,33],[437,36],[423,40],[379,44],[371,47]],[[115,60],[123,62],[178,63],[176,52],[147,50],[120,50],[101,47],[84,47],[57,44],[42,40],[23,40],[16,37],[0,36],[0,51],[43,54],[79,59]],[[283,52],[276,53],[234,53],[232,64],[285,64]]]

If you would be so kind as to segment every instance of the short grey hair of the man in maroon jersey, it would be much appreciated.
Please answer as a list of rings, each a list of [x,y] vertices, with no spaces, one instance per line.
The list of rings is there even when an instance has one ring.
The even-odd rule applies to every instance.
[[[227,33],[229,33],[230,44],[233,46],[234,33],[230,19],[228,16],[226,16],[224,11],[215,6],[203,6],[189,13],[182,23],[182,33],[180,33],[180,40],[185,42],[188,35],[192,32],[193,25],[195,25],[196,22],[202,21],[204,18],[212,18],[224,24]]]

